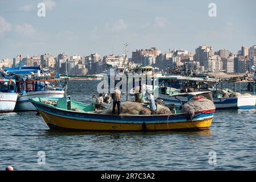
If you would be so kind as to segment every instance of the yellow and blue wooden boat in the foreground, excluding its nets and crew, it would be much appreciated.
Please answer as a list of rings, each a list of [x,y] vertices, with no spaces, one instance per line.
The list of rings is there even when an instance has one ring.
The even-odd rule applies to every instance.
[[[91,104],[60,99],[32,98],[31,103],[50,129],[90,131],[207,130],[214,109],[197,111],[192,120],[187,113],[161,115],[112,115],[96,113]]]

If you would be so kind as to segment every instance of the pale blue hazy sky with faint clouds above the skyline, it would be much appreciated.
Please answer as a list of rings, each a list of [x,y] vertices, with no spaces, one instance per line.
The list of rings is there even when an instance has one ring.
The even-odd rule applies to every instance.
[[[38,16],[38,3],[46,6]],[[209,16],[209,3],[216,16]],[[156,47],[214,51],[256,44],[254,0],[0,0],[0,60],[61,52],[101,56]]]

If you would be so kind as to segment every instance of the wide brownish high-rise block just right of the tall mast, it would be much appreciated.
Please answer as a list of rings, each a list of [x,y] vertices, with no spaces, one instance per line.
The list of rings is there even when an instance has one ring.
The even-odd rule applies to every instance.
[[[144,61],[145,55],[158,56],[160,51],[155,47],[150,49],[136,49],[135,52],[132,52],[132,61],[137,64],[142,64]]]

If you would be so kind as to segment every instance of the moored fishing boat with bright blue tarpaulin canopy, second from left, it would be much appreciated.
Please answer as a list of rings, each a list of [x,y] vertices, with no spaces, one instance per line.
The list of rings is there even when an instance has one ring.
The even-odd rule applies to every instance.
[[[20,56],[21,59],[21,56]],[[40,67],[6,68],[5,76],[15,78],[18,99],[15,111],[35,111],[36,108],[29,101],[30,98],[62,98],[64,90],[60,78],[53,73],[43,72]]]

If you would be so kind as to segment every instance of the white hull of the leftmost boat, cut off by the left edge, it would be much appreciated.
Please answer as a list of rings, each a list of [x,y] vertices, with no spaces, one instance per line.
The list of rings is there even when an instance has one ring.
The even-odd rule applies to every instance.
[[[18,98],[16,93],[0,92],[0,113],[9,113],[14,110]]]

